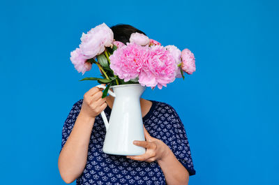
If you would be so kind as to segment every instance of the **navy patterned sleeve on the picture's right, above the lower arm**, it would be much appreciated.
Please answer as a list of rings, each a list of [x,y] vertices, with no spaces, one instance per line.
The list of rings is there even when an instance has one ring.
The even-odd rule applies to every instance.
[[[170,148],[176,156],[177,160],[188,170],[189,175],[195,175],[195,169],[190,152],[190,145],[188,142],[186,130],[183,123],[177,114],[176,110],[169,105],[169,121],[172,122],[172,135],[169,136]]]

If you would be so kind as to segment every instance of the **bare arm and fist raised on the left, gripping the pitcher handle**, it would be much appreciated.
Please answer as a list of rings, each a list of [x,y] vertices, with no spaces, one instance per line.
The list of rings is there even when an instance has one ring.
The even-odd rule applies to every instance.
[[[74,182],[85,168],[95,117],[107,106],[102,95],[103,92],[98,87],[93,87],[84,94],[80,114],[59,154],[59,172],[67,184]]]

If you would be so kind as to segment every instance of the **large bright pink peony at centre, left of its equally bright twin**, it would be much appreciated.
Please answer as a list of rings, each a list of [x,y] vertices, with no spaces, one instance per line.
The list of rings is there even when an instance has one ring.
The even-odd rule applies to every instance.
[[[110,55],[110,68],[115,75],[118,75],[124,82],[128,82],[138,77],[148,54],[148,46],[127,43]]]

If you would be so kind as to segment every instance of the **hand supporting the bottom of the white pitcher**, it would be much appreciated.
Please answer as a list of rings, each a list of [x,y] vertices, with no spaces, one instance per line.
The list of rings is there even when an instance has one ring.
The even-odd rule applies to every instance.
[[[153,162],[159,161],[165,158],[167,154],[169,154],[169,147],[165,144],[165,142],[158,140],[157,138],[151,137],[149,133],[146,131],[144,127],[144,137],[145,141],[134,140],[133,144],[146,148],[145,154],[140,156],[127,156],[127,158],[131,158],[137,161],[146,161]]]

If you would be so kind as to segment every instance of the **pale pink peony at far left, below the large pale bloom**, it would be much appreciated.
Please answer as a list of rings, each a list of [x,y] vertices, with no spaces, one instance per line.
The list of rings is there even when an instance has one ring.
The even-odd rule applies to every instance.
[[[84,55],[82,54],[80,48],[77,48],[73,52],[70,52],[70,61],[72,61],[72,64],[74,64],[75,69],[79,73],[82,72],[82,75],[84,75],[86,71],[91,70],[92,64],[86,62],[86,59],[84,58]]]

